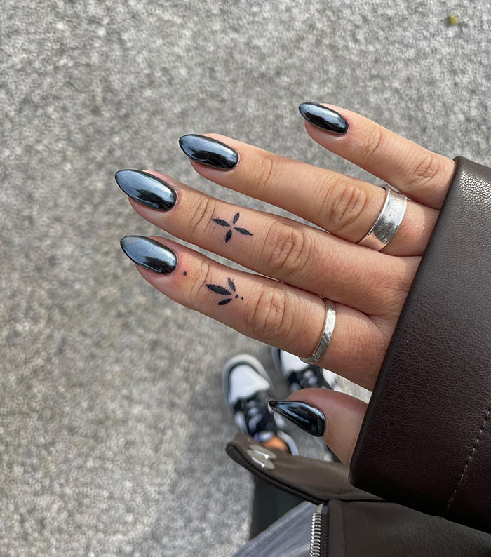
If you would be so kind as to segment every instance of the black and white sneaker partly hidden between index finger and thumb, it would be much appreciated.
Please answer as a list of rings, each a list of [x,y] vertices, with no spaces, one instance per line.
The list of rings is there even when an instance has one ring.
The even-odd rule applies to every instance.
[[[313,363],[302,362],[298,356],[279,348],[271,347],[271,354],[276,370],[290,387],[290,393],[309,388],[341,390],[337,384],[337,375],[332,371],[323,370]]]

